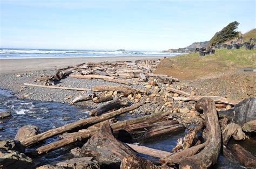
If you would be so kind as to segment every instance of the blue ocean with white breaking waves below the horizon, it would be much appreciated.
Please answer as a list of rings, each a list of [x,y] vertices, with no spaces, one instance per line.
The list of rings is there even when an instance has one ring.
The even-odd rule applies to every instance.
[[[0,59],[83,58],[83,57],[173,57],[181,53],[152,51],[37,50],[0,48]],[[184,54],[184,53],[183,53]]]

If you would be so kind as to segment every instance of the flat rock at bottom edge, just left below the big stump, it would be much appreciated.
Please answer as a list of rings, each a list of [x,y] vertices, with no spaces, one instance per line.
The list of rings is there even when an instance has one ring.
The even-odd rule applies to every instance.
[[[70,160],[57,163],[56,165],[68,168],[100,168],[98,162],[92,160],[92,157],[72,158]]]

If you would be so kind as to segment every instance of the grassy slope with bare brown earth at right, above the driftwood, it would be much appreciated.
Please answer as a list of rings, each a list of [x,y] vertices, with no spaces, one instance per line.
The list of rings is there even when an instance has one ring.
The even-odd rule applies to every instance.
[[[180,55],[161,61],[155,73],[167,74],[179,79],[199,79],[244,67],[256,68],[255,50],[220,49],[206,57],[200,57],[198,53]]]

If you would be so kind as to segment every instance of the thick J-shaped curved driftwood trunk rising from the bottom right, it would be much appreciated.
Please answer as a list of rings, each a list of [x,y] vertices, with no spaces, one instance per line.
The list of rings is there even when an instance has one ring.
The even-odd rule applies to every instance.
[[[207,145],[200,153],[180,161],[180,168],[208,168],[215,163],[220,152],[221,131],[215,103],[211,98],[201,98],[196,109],[203,108],[207,131]]]

